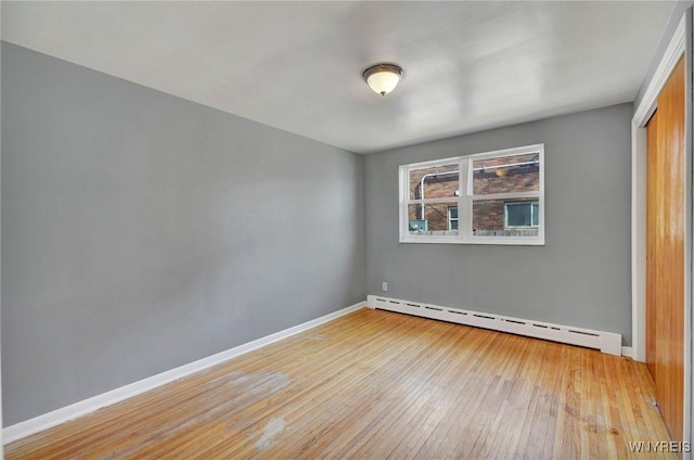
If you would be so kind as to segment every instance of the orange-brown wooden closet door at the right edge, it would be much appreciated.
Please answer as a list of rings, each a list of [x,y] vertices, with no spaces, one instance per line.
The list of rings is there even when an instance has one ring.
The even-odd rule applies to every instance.
[[[684,408],[684,59],[646,126],[646,365],[674,440]]]

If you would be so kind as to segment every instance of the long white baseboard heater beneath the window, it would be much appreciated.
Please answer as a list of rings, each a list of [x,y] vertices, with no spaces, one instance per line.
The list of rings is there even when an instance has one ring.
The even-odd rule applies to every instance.
[[[621,334],[571,328],[549,322],[511,318],[492,314],[441,307],[439,305],[409,302],[399,298],[369,295],[367,305],[370,308],[414,315],[493,331],[543,338],[547,341],[596,348],[602,353],[621,356]]]

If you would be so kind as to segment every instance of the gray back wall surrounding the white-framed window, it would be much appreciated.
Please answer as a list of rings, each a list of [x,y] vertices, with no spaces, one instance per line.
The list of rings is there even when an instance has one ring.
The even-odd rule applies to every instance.
[[[631,104],[367,156],[367,289],[631,340]],[[543,142],[545,245],[398,243],[398,166]],[[388,282],[388,292],[381,290]]]

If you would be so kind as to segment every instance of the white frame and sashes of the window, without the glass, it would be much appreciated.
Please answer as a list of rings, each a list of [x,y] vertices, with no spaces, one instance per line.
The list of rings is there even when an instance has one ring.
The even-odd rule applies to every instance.
[[[537,154],[539,159],[539,190],[532,192],[497,193],[487,195],[473,194],[473,162],[485,158],[498,158],[503,156],[516,156],[524,154]],[[410,171],[413,169],[437,167],[458,164],[459,187],[458,196],[440,199],[410,199]],[[491,152],[475,153],[471,155],[454,156],[432,162],[413,163],[399,167],[399,193],[400,193],[400,243],[452,243],[452,244],[501,244],[501,245],[544,245],[544,144],[524,145],[513,149],[497,150]],[[464,193],[462,193],[464,191]],[[488,237],[474,235],[472,229],[472,209],[475,200],[514,200],[537,199],[539,227],[538,234],[532,237]],[[435,203],[457,203],[458,205],[458,234],[410,234],[409,232],[409,206]],[[504,216],[505,218],[505,216]]]

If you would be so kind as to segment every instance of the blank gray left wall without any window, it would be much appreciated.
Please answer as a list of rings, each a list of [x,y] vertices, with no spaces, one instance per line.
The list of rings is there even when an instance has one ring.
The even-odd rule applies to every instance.
[[[2,43],[17,423],[364,298],[363,157]]]

